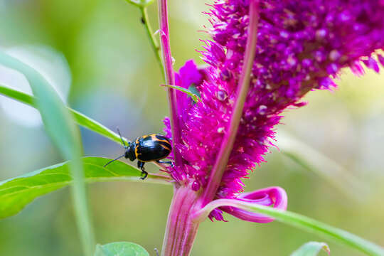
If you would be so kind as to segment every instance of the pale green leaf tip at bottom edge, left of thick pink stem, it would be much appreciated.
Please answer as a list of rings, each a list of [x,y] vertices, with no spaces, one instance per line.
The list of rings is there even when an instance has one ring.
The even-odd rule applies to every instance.
[[[133,242],[111,242],[96,245],[95,256],[149,256],[149,253]]]

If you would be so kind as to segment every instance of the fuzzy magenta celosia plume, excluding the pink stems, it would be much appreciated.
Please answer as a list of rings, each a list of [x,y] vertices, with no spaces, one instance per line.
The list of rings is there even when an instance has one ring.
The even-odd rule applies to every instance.
[[[177,85],[194,85],[202,103],[178,93],[183,166],[172,170],[178,183],[204,190],[227,131],[245,59],[250,0],[216,1],[208,13],[213,41],[202,52],[208,68],[188,61],[176,75]],[[376,72],[384,58],[384,1],[261,1],[257,47],[235,144],[216,198],[243,198],[245,178],[273,145],[274,126],[282,111],[301,107],[306,92],[335,87],[342,68],[363,74],[361,61]],[[171,136],[169,121],[166,133]],[[231,208],[222,208],[238,217]],[[211,218],[223,220],[219,209]],[[242,215],[244,217],[244,215]],[[240,217],[241,218],[241,217]],[[245,218],[246,219],[246,218]]]

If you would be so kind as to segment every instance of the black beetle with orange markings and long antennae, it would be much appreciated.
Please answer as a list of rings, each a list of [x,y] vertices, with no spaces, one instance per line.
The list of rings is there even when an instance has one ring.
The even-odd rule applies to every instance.
[[[119,132],[120,139],[122,139],[122,134],[120,134],[119,129],[117,128],[117,132]],[[172,161],[161,161],[161,159],[165,159],[172,151],[171,142],[167,137],[161,134],[148,134],[143,135],[142,137],[137,137],[134,142],[129,142],[129,144],[125,144],[122,139],[122,144],[124,145],[125,152],[122,156],[117,157],[117,159],[121,159],[125,157],[131,161],[137,159],[137,167],[142,170],[141,179],[144,180],[148,173],[144,169],[144,164],[150,161],[156,161],[159,164],[171,164],[174,166]],[[111,164],[113,161],[117,159],[113,159],[108,164]],[[104,167],[105,167],[104,166]]]

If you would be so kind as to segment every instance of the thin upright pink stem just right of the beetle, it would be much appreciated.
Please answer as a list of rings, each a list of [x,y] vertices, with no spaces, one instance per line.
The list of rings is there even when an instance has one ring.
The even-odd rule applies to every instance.
[[[162,59],[164,63],[164,73],[167,85],[175,85],[175,73],[172,65],[171,45],[169,43],[169,26],[168,26],[168,10],[166,0],[158,0],[159,6],[159,26],[160,26],[160,46]],[[171,87],[167,88],[169,110],[171,112],[171,129],[172,142],[174,149],[176,145],[181,143],[181,129],[178,123],[176,90]],[[175,164],[181,165],[181,155],[177,150],[174,150]]]

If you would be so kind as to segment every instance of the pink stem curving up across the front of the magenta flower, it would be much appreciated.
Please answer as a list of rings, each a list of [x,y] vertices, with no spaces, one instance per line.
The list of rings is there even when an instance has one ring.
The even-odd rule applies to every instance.
[[[210,172],[208,185],[203,195],[203,203],[209,203],[215,197],[216,191],[220,186],[221,178],[223,177],[225,167],[228,164],[230,152],[233,149],[236,134],[240,119],[242,117],[242,110],[244,108],[247,92],[250,87],[250,78],[252,73],[253,61],[255,60],[255,51],[257,45],[257,25],[259,23],[259,1],[250,1],[250,24],[248,26],[247,45],[245,47],[245,58],[242,65],[242,72],[238,83],[237,98],[233,107],[233,114],[230,118],[230,125],[223,138],[220,151]]]

